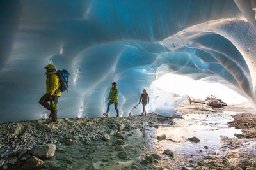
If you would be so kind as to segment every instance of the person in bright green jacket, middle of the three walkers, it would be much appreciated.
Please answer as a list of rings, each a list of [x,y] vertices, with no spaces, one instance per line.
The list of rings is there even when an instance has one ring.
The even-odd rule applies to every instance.
[[[117,86],[117,83],[113,82],[112,83],[112,88],[111,88],[111,90],[109,92],[109,96],[108,96],[108,99],[109,99],[108,108],[107,108],[106,113],[103,113],[103,115],[106,116],[106,117],[108,117],[109,106],[113,103],[115,104],[116,117],[119,117],[119,111],[117,109],[119,91],[116,88],[116,86]]]

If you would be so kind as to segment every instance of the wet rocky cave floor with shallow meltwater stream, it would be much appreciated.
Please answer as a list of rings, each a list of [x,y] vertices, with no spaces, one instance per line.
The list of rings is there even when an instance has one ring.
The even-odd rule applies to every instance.
[[[237,157],[232,164],[228,160],[230,150],[234,157],[249,147],[234,153],[236,146],[241,149],[246,142],[250,150],[256,146],[254,139],[234,136],[241,129],[228,127],[232,114],[186,113],[166,118],[152,113],[147,117],[63,118],[54,125],[47,124],[48,120],[5,123],[0,125],[0,167],[253,169],[253,159],[246,164]],[[255,157],[250,150],[247,156]]]

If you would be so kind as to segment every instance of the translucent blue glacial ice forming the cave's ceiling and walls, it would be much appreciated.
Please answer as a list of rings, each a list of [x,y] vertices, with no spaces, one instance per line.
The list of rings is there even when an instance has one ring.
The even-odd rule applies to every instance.
[[[71,74],[58,117],[101,117],[112,81],[127,116],[164,73],[221,81],[256,103],[255,7],[250,0],[0,1],[0,122],[41,117],[49,62]]]

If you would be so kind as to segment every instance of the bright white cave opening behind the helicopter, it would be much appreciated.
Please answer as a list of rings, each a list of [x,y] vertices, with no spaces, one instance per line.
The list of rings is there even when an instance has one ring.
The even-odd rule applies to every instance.
[[[221,80],[221,82],[224,82]],[[225,82],[227,83],[227,82]],[[209,95],[214,95],[222,99],[227,104],[248,103],[246,97],[241,96],[229,83],[223,85],[220,80],[207,81],[205,78],[193,80],[188,76],[167,73],[157,78],[152,85],[152,89],[162,90],[171,96],[190,96],[195,99],[205,99]]]

